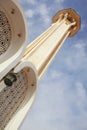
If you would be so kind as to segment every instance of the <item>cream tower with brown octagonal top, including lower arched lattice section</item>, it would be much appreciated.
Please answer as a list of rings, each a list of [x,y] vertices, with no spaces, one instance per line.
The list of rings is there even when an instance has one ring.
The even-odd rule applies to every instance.
[[[73,9],[59,11],[51,27],[27,47],[21,61],[0,81],[1,130],[19,128],[34,101],[38,80],[66,38],[79,29],[80,16]]]

